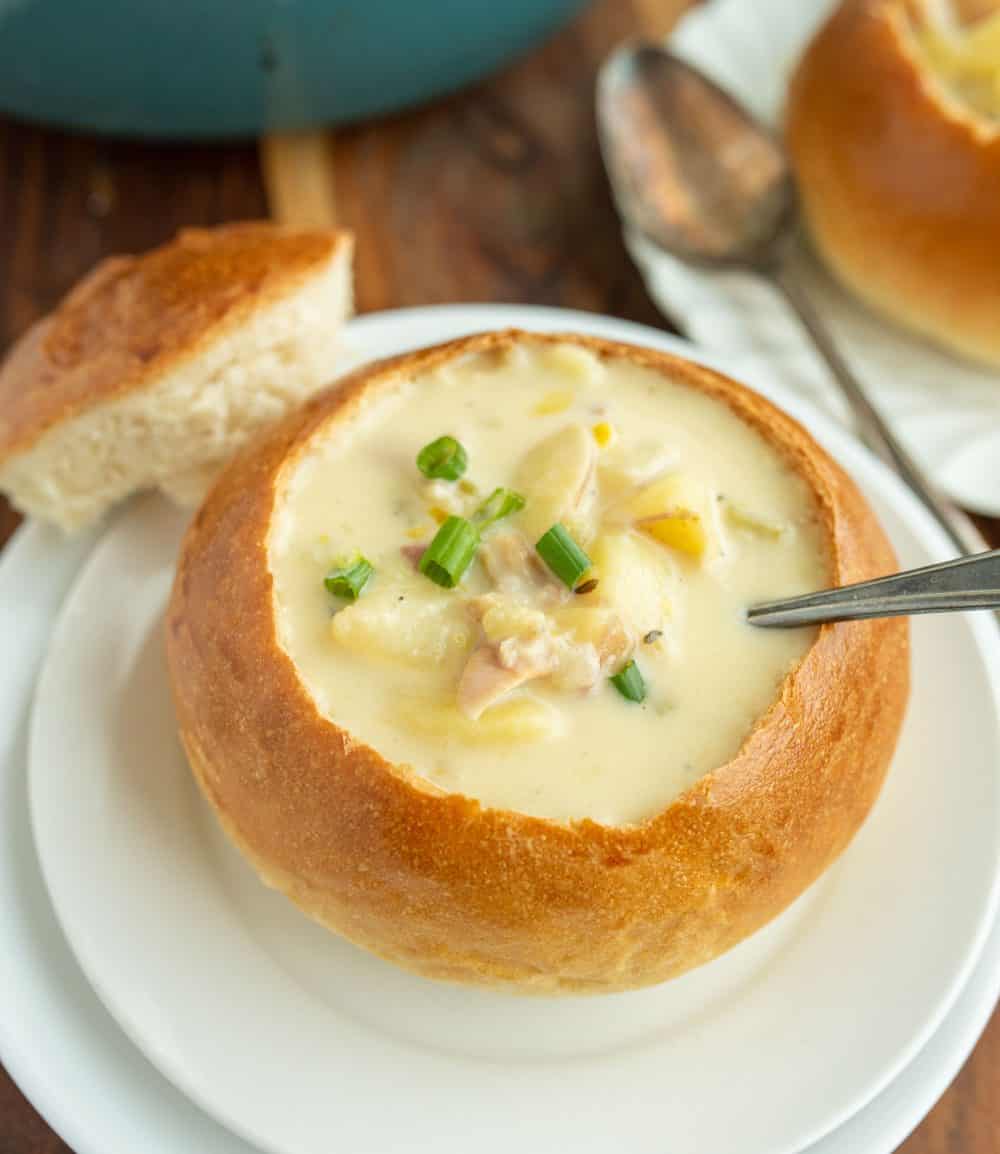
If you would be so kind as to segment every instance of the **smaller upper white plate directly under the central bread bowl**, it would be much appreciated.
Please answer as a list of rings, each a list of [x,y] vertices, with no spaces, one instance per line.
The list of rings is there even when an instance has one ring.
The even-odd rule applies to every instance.
[[[371,347],[384,352],[390,344],[514,320],[641,336],[612,322],[504,309],[424,312],[397,325],[374,319],[353,330],[363,342],[382,327]],[[839,448],[851,458],[849,445]],[[892,493],[878,470],[856,450],[854,457],[849,464],[859,475]],[[941,548],[919,510],[895,495],[890,504],[899,505],[893,519],[907,560],[928,555],[919,540],[931,541],[930,552]],[[738,1124],[740,1151],[774,1154],[860,1104],[915,1052],[956,991],[985,929],[986,879],[995,862],[994,782],[983,769],[991,743],[995,750],[995,699],[982,676],[982,653],[977,658],[977,645],[985,653],[991,644],[988,624],[953,623],[939,636],[940,623],[922,623],[922,645],[933,657],[920,662],[923,674],[918,668],[924,717],[908,734],[913,756],[897,766],[875,818],[820,892],[821,905],[807,902],[773,932],[662,990],[526,1006],[434,987],[340,946],[248,879],[211,824],[191,822],[198,807],[187,774],[175,756],[163,756],[171,727],[157,704],[161,673],[150,639],[170,564],[155,552],[168,553],[172,527],[168,517],[130,512],[73,599],[39,700],[36,825],[63,922],[106,1001],[161,1066],[245,1132],[253,1127],[284,1149],[328,1148],[331,1133],[348,1148],[382,1149],[393,1139],[409,1149],[431,1142],[448,1149],[474,1133],[489,1149],[524,1130],[540,1146],[573,1140],[581,1149],[603,1149],[612,1133],[611,1140],[639,1151],[664,1144],[683,1151],[732,1148],[722,1131]],[[123,586],[135,595],[127,612]],[[113,614],[113,636],[97,628],[107,627],[112,602],[121,610]],[[979,760],[976,749],[968,756],[956,749],[961,789],[954,774],[937,789],[952,762],[939,770],[913,749],[923,744],[933,754],[927,679],[933,691],[931,665],[939,660],[961,661],[970,677],[954,720],[969,725]],[[88,680],[97,676],[100,682]],[[95,684],[101,685],[97,699],[84,704]],[[73,743],[69,763],[45,724],[62,694],[55,728]],[[962,707],[971,709],[964,719]],[[121,737],[131,743],[130,757],[121,757]],[[151,814],[151,804],[163,808]],[[923,839],[926,853],[902,869],[899,846],[885,852],[887,838],[900,846]],[[879,868],[866,871],[872,861]],[[980,869],[964,884],[972,865]],[[884,890],[887,878],[895,885]],[[837,935],[830,920],[843,917],[845,907],[852,924]],[[922,917],[938,919],[930,942]],[[909,943],[900,951],[907,957],[893,959],[886,979],[885,944],[899,950],[901,941]],[[880,981],[888,987],[879,988]],[[873,988],[872,1001],[884,1004],[844,1001]],[[258,1006],[266,1016],[255,1012]],[[844,1028],[851,1014],[858,1018]],[[616,1047],[610,1055],[609,1044]],[[734,1063],[734,1052],[743,1064]],[[722,1077],[732,1080],[724,1088],[730,1112],[720,1118],[713,1089]],[[262,1078],[270,1079],[268,1095],[260,1094]],[[770,1095],[775,1085],[782,1087],[780,1110]],[[378,1106],[385,1086],[392,1086],[392,1118]],[[444,1115],[433,1115],[435,1095]],[[710,1116],[699,1117],[699,1107]],[[760,1117],[772,1110],[780,1117]]]

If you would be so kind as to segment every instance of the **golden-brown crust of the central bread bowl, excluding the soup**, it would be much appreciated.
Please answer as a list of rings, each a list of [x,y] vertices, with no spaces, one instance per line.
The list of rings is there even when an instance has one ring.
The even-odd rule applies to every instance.
[[[230,465],[183,541],[167,659],[195,778],[268,885],[429,977],[608,992],[709,961],[837,857],[893,755],[909,634],[901,619],[819,629],[727,764],[662,812],[621,826],[486,808],[391,764],[321,713],[276,623],[269,539],[290,472],[316,439],[336,436],[400,382],[469,355],[555,343],[698,390],[762,434],[814,499],[837,583],[895,567],[855,485],[759,395],[631,345],[483,334],[360,369]]]

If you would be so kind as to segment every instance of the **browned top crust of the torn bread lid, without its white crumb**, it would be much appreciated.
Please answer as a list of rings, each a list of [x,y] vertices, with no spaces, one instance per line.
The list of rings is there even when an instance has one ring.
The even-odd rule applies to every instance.
[[[0,365],[0,460],[46,429],[142,389],[326,268],[348,234],[266,222],[189,228],[101,261]]]

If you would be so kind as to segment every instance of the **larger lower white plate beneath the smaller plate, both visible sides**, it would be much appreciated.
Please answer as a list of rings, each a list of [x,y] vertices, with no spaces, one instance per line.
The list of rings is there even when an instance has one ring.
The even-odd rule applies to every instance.
[[[0,557],[0,1058],[77,1154],[254,1154],[125,1039],[69,953],[38,871],[27,823],[28,706],[53,619],[91,545],[91,537],[70,542],[30,525]],[[954,1078],[998,990],[994,922],[969,983],[931,1042],[809,1154],[894,1149]]]

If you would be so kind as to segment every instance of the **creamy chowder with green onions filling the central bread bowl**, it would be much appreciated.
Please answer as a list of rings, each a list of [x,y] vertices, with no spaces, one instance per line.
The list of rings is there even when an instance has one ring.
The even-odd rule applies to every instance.
[[[428,478],[443,436],[421,463],[460,475]],[[806,486],[758,433],[571,344],[467,355],[321,429],[269,553],[322,713],[443,790],[610,825],[732,757],[815,636],[745,607],[828,572]],[[454,587],[422,571],[466,562]]]

